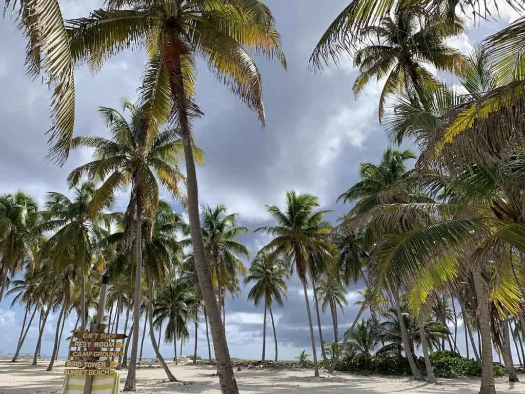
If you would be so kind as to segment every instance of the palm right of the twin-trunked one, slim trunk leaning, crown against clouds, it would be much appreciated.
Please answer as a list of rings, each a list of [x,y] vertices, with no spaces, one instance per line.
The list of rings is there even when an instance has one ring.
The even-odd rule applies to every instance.
[[[311,194],[297,194],[295,191],[288,191],[286,192],[284,211],[275,205],[267,205],[268,212],[274,217],[276,225],[264,226],[256,230],[265,231],[273,237],[270,243],[261,249],[262,253],[281,256],[284,261],[295,263],[294,267],[304,292],[316,377],[319,376],[319,368],[307,290],[308,256],[312,252],[329,257],[334,257],[337,254],[334,246],[325,237],[332,231],[332,226],[323,221],[323,215],[330,211],[314,211],[318,206],[317,197]]]

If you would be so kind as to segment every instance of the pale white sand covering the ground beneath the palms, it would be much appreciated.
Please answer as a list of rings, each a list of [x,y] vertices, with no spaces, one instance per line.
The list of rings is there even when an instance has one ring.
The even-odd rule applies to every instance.
[[[0,361],[0,394],[51,393],[60,390],[64,363],[57,362],[53,372],[46,372],[46,365],[31,367],[28,362]],[[142,368],[137,372],[137,390],[154,394],[184,392],[191,394],[218,394],[217,377],[212,376],[215,368],[208,366],[180,365],[170,367],[179,382],[164,382],[164,371],[159,367]],[[121,371],[121,388],[125,380]],[[439,379],[438,385],[411,381],[407,378],[362,377],[346,374],[327,375],[313,378],[311,370],[253,370],[236,371],[235,376],[241,394],[352,394],[403,393],[432,394],[477,393],[479,380]],[[524,377],[525,380],[525,377]],[[524,393],[525,382],[510,385],[505,379],[496,382],[498,393]],[[407,393],[407,394],[408,394]]]

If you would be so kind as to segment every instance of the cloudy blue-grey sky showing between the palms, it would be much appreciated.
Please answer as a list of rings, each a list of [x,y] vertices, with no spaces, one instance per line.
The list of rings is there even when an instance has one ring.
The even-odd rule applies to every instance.
[[[336,204],[337,197],[359,180],[360,162],[377,162],[388,145],[377,120],[377,102],[381,81],[371,83],[356,99],[352,92],[356,70],[352,60],[339,67],[312,72],[308,58],[317,40],[348,0],[330,0],[322,7],[315,0],[268,0],[277,29],[282,36],[288,70],[277,62],[258,59],[264,86],[267,126],[261,128],[257,116],[245,108],[220,85],[203,63],[198,63],[197,102],[205,116],[194,123],[196,144],[205,152],[205,165],[197,169],[199,199],[214,206],[224,203],[229,212],[239,213],[239,225],[255,229],[271,225],[265,204],[283,206],[287,190],[317,195],[322,209],[335,223],[350,206]],[[99,0],[63,1],[66,18],[87,16],[101,6]],[[468,34],[450,39],[462,51],[490,33],[506,26],[516,14],[501,1],[501,18],[476,25],[468,22]],[[45,131],[49,121],[49,92],[40,80],[25,76],[23,37],[9,19],[0,19],[0,193],[23,190],[40,203],[46,192],[67,193],[66,177],[71,169],[90,159],[91,152],[72,152],[67,164],[58,168],[46,162],[48,145]],[[122,97],[134,99],[144,69],[144,54],[123,53],[109,60],[103,70],[92,76],[86,69],[76,72],[76,135],[107,135],[97,113],[98,106],[119,108]],[[410,165],[410,164],[409,164]],[[123,198],[124,199],[124,198]],[[121,200],[116,209],[124,210]],[[180,212],[180,207],[174,205]],[[247,234],[241,239],[257,253],[268,242],[264,234]],[[285,307],[276,308],[279,357],[295,358],[302,349],[310,353],[309,331],[304,293],[297,279],[288,284]],[[359,306],[352,286],[346,296],[348,306],[340,315],[340,327],[348,327]],[[247,301],[248,289],[226,301],[226,334],[230,354],[239,358],[260,357],[262,345],[262,308]],[[0,303],[0,351],[13,352],[24,315],[19,305],[10,306],[6,297]],[[328,312],[328,311],[327,311]],[[57,315],[49,317],[41,354],[53,347]],[[75,325],[75,316],[67,321],[66,331]],[[322,318],[325,339],[333,339],[329,314]],[[340,332],[343,332],[340,328]],[[460,332],[463,327],[459,327]],[[193,328],[183,354],[193,353]],[[271,326],[267,330],[267,358],[273,358]],[[317,332],[316,332],[317,336]],[[37,328],[29,330],[23,353],[33,352]],[[204,324],[197,335],[198,354],[205,357],[207,346]],[[177,345],[178,346],[178,345]],[[460,349],[464,342],[460,340]],[[162,344],[165,357],[173,355],[171,344]],[[66,346],[62,346],[63,356]],[[318,348],[319,351],[319,348]],[[145,341],[144,356],[153,350]]]

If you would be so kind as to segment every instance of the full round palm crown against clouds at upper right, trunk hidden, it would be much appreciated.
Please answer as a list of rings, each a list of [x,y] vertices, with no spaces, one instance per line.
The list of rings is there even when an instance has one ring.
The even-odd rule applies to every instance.
[[[393,16],[381,18],[379,25],[366,27],[367,39],[355,50],[354,66],[359,75],[353,91],[358,95],[372,78],[386,77],[379,98],[379,119],[385,101],[393,94],[418,95],[432,90],[436,80],[425,64],[439,70],[458,72],[464,58],[444,44],[447,37],[463,31],[460,24],[449,26],[443,18],[424,20],[418,6],[397,7]]]

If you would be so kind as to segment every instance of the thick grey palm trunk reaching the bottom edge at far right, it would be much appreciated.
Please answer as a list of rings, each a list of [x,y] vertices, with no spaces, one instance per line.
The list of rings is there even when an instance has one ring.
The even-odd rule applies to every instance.
[[[479,336],[481,337],[481,387],[479,394],[496,394],[494,385],[494,368],[492,365],[492,341],[490,337],[490,316],[486,300],[487,286],[481,276],[481,266],[477,264],[472,269],[472,279],[478,301],[477,316],[479,321]]]

